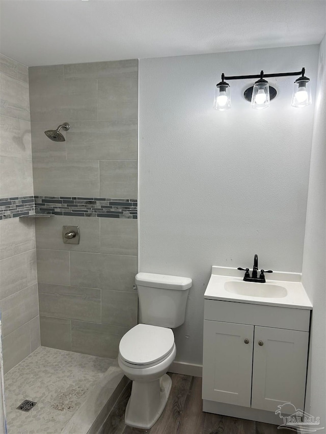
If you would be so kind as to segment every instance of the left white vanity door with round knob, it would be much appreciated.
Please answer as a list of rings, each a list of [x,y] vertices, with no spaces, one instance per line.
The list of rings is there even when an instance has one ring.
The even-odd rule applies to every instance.
[[[250,407],[254,326],[204,321],[203,399]]]

